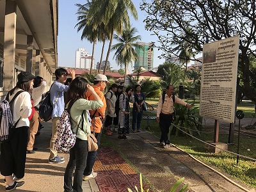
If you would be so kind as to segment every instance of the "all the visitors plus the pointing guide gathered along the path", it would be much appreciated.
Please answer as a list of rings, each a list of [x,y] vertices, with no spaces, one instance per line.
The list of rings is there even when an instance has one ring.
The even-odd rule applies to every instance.
[[[88,152],[87,135],[93,132],[100,145],[102,121],[105,120],[104,132],[112,134],[118,132],[119,140],[126,140],[130,127],[130,103],[132,108],[132,131],[141,132],[140,124],[143,115],[145,95],[141,93],[140,84],[136,84],[135,93],[131,86],[112,84],[106,95],[104,89],[109,83],[108,78],[98,74],[94,78],[93,86],[83,77],[75,77],[74,70],[70,70],[71,79],[67,82],[68,72],[65,68],[55,71],[56,80],[50,88],[52,109],[52,134],[50,141],[49,163],[64,163],[65,159],[58,156],[54,147],[57,138],[57,127],[61,114],[65,109],[70,113],[72,131],[77,138],[74,147],[70,149],[70,157],[64,174],[64,189],[68,191],[83,191],[82,182],[97,177],[93,172],[93,164],[97,151]],[[23,90],[11,106],[13,122],[17,122],[16,129],[10,141],[1,143],[0,171],[6,180],[6,191],[12,191],[24,184],[26,153],[35,153],[35,134],[40,124],[38,105],[45,92],[46,82],[42,77],[34,77],[29,72],[20,72],[16,86],[10,90],[9,99],[15,93]],[[160,143],[167,148],[170,146],[168,130],[172,123],[173,86],[166,88],[164,100],[160,97],[157,108],[157,122],[161,127]],[[191,108],[189,104],[175,96],[175,102]],[[111,124],[115,127],[111,127]],[[137,125],[137,126],[136,126]],[[28,136],[29,130],[29,136]],[[74,179],[72,179],[74,175]]]

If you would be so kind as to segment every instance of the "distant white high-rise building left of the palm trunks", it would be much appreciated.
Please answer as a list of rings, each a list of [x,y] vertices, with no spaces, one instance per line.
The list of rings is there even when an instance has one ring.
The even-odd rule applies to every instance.
[[[79,48],[76,50],[76,68],[86,68],[90,69],[92,61],[92,55],[86,51],[84,48]],[[94,59],[93,59],[93,66],[94,68]]]

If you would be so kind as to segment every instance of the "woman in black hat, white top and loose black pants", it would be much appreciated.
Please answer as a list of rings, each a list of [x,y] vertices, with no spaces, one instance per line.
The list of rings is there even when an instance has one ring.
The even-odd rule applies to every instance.
[[[16,93],[21,90],[24,91],[19,93],[10,106],[13,124],[17,123],[12,138],[5,143],[1,143],[0,170],[1,175],[4,175],[6,180],[6,191],[12,191],[24,185],[24,181],[17,182],[17,180],[21,180],[25,174],[28,117],[32,113],[31,91],[33,81],[34,76],[32,74],[20,72],[16,86],[6,96],[6,99],[10,102]]]

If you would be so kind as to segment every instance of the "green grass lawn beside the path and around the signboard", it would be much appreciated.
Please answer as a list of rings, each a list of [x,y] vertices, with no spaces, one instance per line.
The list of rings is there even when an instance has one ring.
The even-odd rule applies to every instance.
[[[158,98],[156,99],[147,99],[149,104],[152,104],[157,107]],[[193,100],[188,100],[189,103],[193,103]],[[199,107],[198,100],[195,101],[194,106]],[[237,105],[237,109],[244,111],[244,116],[247,118],[252,118],[255,115],[254,104],[250,102],[243,102]],[[156,112],[154,111],[145,111],[143,116],[156,116]],[[154,123],[152,123],[154,122]],[[159,125],[157,124],[156,120],[142,120],[141,127],[142,129],[146,129],[150,126],[150,131],[152,134],[155,134],[160,138],[161,131]],[[214,129],[213,127],[203,127],[201,136],[196,136],[196,138],[203,140],[203,141],[211,141],[214,138]],[[108,140],[103,138],[103,140]],[[170,136],[170,141],[177,147],[181,148],[182,150],[188,152],[192,156],[200,159],[204,163],[212,164],[223,172],[228,173],[232,177],[236,178],[237,180],[241,180],[252,186],[256,189],[256,162],[243,159],[242,157],[239,158],[238,165],[236,164],[237,156],[234,154],[230,154],[227,152],[221,152],[219,154],[207,152],[204,148],[204,143],[198,141],[190,136]],[[221,143],[228,142],[228,132],[223,131],[220,129],[219,141]],[[113,145],[113,143],[105,141],[108,145]],[[104,142],[103,142],[104,143]],[[230,152],[237,153],[237,134],[234,136],[234,144],[228,145],[228,150]],[[104,144],[103,144],[104,145]],[[240,145],[239,145],[239,154],[247,157],[251,157],[256,159],[256,138],[251,138],[248,136],[241,135],[240,137]]]

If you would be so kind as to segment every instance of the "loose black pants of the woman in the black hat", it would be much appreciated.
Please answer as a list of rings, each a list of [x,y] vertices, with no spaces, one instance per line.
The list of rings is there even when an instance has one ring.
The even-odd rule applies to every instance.
[[[17,127],[13,131],[12,139],[6,143],[1,143],[1,175],[14,174],[17,178],[24,177],[27,138],[28,127]]]

